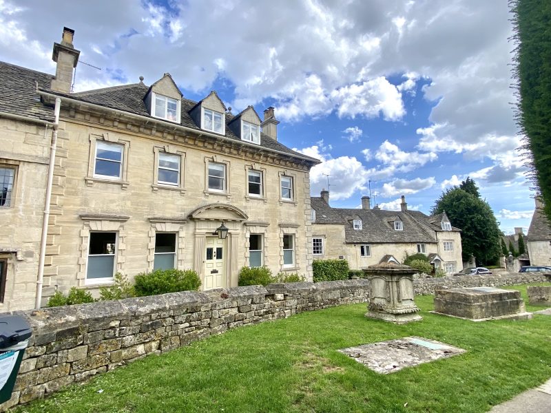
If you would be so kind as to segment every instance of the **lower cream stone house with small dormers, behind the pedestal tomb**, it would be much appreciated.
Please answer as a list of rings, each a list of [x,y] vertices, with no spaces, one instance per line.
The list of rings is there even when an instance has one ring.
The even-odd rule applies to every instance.
[[[361,269],[424,253],[430,264],[448,274],[463,269],[461,230],[446,213],[409,211],[404,196],[400,211],[371,209],[368,196],[362,197],[361,209],[333,208],[325,190],[311,204],[314,259],[344,258],[351,269]]]

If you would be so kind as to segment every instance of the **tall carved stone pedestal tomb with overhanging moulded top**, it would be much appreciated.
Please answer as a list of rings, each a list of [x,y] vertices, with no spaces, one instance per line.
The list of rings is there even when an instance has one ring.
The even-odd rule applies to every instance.
[[[364,269],[369,281],[369,304],[366,317],[407,323],[421,320],[413,297],[413,273],[410,266],[393,262],[368,266]]]

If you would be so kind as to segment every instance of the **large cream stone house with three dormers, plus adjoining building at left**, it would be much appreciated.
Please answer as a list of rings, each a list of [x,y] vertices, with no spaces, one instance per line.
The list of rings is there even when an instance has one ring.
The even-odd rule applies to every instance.
[[[249,265],[311,279],[319,161],[278,142],[273,108],[233,115],[216,92],[185,98],[170,74],[71,93],[73,35],[54,43],[55,76],[0,65],[0,311],[72,286],[97,293],[117,272],[191,268],[202,289],[237,286]]]

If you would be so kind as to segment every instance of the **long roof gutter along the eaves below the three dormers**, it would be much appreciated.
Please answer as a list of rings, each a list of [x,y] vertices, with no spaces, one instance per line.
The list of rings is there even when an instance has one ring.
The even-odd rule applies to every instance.
[[[260,149],[263,149],[264,151],[278,153],[280,155],[289,156],[291,158],[298,158],[298,159],[302,159],[302,160],[307,160],[309,162],[315,162],[315,165],[318,165],[319,163],[321,163],[321,161],[319,159],[310,158],[309,156],[300,156],[300,155],[295,155],[294,153],[287,153],[287,152],[284,152],[284,151],[278,151],[277,149],[269,149],[267,147],[261,147],[259,145],[253,145],[252,143],[249,143],[249,142],[243,142],[242,140],[237,141],[235,139],[227,138],[227,137],[222,136],[222,135],[213,134],[213,133],[208,132],[208,131],[203,131],[203,130],[200,130],[200,129],[194,129],[192,127],[178,125],[176,123],[166,122],[165,120],[158,120],[158,119],[155,119],[155,118],[148,118],[147,116],[132,114],[130,112],[125,112],[125,111],[120,110],[120,109],[112,109],[111,107],[96,105],[95,103],[87,103],[87,102],[83,102],[82,100],[76,100],[74,98],[69,98],[67,96],[59,96],[59,95],[52,94],[52,93],[49,93],[49,92],[43,92],[42,90],[39,90],[38,88],[37,88],[37,93],[41,96],[47,96],[49,98],[61,99],[61,100],[64,100],[65,102],[74,103],[76,105],[83,105],[83,106],[87,106],[87,107],[92,107],[94,109],[101,110],[102,112],[112,112],[112,113],[116,113],[116,114],[119,114],[119,115],[122,115],[122,116],[128,116],[129,118],[142,120],[144,122],[155,123],[156,125],[171,127],[173,129],[179,129],[181,131],[192,132],[194,134],[199,134],[199,135],[209,136],[211,138],[217,138],[217,139],[220,139],[220,140],[225,140],[227,142],[232,142],[233,144],[239,142],[240,145],[244,145],[244,146],[247,146],[247,147],[254,148],[257,151],[260,148]]]

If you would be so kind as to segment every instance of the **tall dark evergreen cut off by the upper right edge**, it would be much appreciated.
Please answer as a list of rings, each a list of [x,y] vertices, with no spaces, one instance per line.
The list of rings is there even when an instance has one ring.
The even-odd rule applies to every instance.
[[[513,14],[517,123],[530,178],[551,220],[551,1],[510,0]]]

